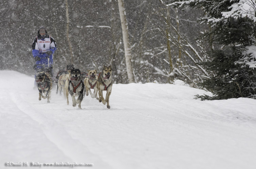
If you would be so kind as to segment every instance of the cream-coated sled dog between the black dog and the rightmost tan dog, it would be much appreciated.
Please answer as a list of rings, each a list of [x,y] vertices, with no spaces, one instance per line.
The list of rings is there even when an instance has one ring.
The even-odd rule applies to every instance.
[[[91,98],[95,98],[97,100],[99,100],[98,98],[98,89],[97,89],[97,80],[98,80],[98,76],[97,75],[97,70],[87,70],[88,74],[86,75],[85,79],[84,79],[84,86],[86,89],[86,96],[91,95]],[[91,93],[91,89],[93,89],[93,94]]]

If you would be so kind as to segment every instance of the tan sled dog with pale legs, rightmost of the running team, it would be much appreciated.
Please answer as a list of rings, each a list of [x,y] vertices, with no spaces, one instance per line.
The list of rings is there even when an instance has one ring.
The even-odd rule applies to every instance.
[[[97,89],[99,91],[99,102],[102,102],[103,104],[107,103],[107,108],[110,108],[109,105],[109,96],[112,91],[112,80],[113,76],[113,69],[110,66],[105,66],[103,65],[102,72],[99,73],[98,75],[98,83],[97,83]],[[106,93],[106,98],[104,99],[102,91],[107,91]]]

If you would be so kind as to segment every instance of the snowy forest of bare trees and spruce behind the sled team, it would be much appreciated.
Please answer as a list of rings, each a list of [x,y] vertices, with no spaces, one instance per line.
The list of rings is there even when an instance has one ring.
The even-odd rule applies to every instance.
[[[247,18],[226,20],[222,12],[239,0],[123,2],[134,82],[181,79],[215,95],[198,96],[202,100],[256,98],[255,55],[249,52],[255,45],[254,1],[243,11]],[[112,65],[115,83],[129,83],[117,0],[2,0],[1,6],[1,69],[33,75],[31,45],[45,26],[58,45],[55,73],[68,64],[82,71]]]

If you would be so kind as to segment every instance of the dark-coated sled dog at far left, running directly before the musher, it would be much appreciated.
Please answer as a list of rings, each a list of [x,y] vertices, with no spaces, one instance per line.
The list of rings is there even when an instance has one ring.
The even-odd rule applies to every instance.
[[[41,98],[46,99],[47,98],[47,103],[50,103],[51,99],[51,80],[50,78],[45,74],[45,72],[40,72],[37,74],[37,88],[39,91],[39,100]],[[45,95],[45,96],[44,96]]]

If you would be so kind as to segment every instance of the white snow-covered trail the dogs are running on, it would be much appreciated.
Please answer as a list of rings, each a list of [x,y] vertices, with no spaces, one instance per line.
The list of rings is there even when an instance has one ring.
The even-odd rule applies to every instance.
[[[194,95],[210,93],[174,84],[131,83],[113,85],[110,109],[85,96],[79,110],[66,105],[56,89],[51,103],[39,101],[33,77],[0,72],[0,166],[6,162],[93,163],[93,168],[104,169],[256,166],[256,100],[200,101]]]

